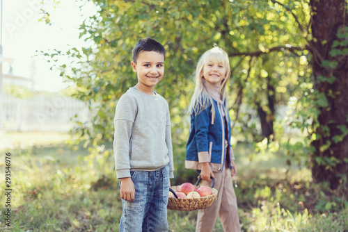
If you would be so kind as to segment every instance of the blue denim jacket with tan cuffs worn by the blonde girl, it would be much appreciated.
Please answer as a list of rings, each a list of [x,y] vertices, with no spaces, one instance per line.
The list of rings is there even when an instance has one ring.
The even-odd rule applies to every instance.
[[[213,99],[213,102],[215,108],[214,118],[212,118],[211,113],[212,106],[203,109],[196,116],[191,114],[191,129],[185,160],[187,169],[200,170],[202,168],[201,163],[209,162],[213,172],[221,172],[225,166],[226,155],[228,160],[235,159],[230,146],[230,116],[228,113],[226,114],[226,125],[222,114],[224,108],[226,108],[226,99],[223,101],[223,105],[215,99]],[[228,112],[228,110],[226,111]],[[228,136],[226,136],[226,132]],[[228,166],[232,167],[230,163]]]

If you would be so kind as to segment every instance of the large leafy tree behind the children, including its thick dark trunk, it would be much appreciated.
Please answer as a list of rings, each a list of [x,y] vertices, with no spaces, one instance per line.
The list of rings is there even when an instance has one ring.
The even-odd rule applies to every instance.
[[[235,134],[244,135],[248,142],[267,137],[279,143],[281,131],[274,129],[276,107],[291,103],[297,112],[292,125],[306,129],[308,137],[288,153],[312,154],[313,177],[340,182],[347,171],[347,111],[338,107],[347,106],[342,94],[347,86],[347,32],[341,30],[337,38],[329,35],[344,28],[345,1],[93,2],[98,12],[80,28],[81,38],[90,41],[90,47],[70,49],[65,54],[76,58],[77,65],[71,69],[69,64],[61,65],[62,75],[77,85],[76,97],[89,101],[95,110],[92,124],[79,123],[75,133],[93,144],[113,139],[115,103],[136,83],[129,65],[132,47],[150,36],[166,47],[166,75],[157,91],[171,106],[175,154],[184,156],[191,76],[199,56],[217,44],[230,56],[230,115]],[[326,4],[332,6],[325,8]],[[313,65],[308,65],[311,59]],[[260,128],[242,106],[258,113]],[[311,142],[313,151],[308,147]]]

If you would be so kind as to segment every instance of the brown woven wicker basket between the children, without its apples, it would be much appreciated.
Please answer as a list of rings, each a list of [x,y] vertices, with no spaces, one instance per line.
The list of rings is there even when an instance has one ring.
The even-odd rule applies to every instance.
[[[197,184],[200,179],[198,179],[195,187],[199,188]],[[213,202],[217,199],[218,190],[216,190],[214,184],[212,185],[212,194],[207,197],[199,197],[199,198],[168,198],[168,206],[167,208],[170,210],[180,210],[180,211],[192,211],[192,210],[200,210],[204,208],[208,208],[213,204]],[[171,192],[178,190],[180,186],[172,186]]]

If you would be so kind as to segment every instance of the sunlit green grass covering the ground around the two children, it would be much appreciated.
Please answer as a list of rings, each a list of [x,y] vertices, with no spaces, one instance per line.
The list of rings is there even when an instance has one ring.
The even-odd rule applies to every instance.
[[[118,231],[122,206],[110,154],[88,159],[90,151],[70,149],[64,142],[69,135],[62,133],[6,138],[20,146],[7,142],[1,147],[1,154],[11,153],[13,191],[10,227],[4,224],[6,199],[0,196],[0,231]],[[308,169],[287,169],[283,156],[258,154],[249,160],[250,152],[244,145],[235,149],[243,231],[347,231],[345,199],[327,197],[325,186],[311,183]],[[104,163],[97,165],[98,159]],[[4,176],[3,155],[0,167]],[[170,231],[194,231],[196,217],[196,211],[168,210]],[[223,231],[219,220],[214,231]]]

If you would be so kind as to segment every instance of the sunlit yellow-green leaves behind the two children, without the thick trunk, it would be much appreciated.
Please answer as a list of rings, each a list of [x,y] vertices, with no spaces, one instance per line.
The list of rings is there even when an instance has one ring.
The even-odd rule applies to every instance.
[[[310,57],[305,48],[308,31],[297,24],[308,21],[306,2],[289,2],[286,6],[276,1],[93,2],[97,13],[80,26],[80,37],[90,45],[81,50],[43,52],[62,69],[61,75],[76,85],[74,96],[90,103],[93,120],[77,122],[72,131],[77,142],[86,140],[86,145],[97,147],[113,140],[117,99],[136,84],[130,66],[132,48],[147,36],[166,48],[165,78],[156,90],[171,106],[175,166],[183,177],[187,175],[182,162],[189,133],[191,76],[204,51],[217,44],[230,56],[233,134],[244,135],[235,137],[237,141],[262,140],[260,122],[250,120],[257,115],[240,110],[242,104],[262,109],[267,120],[274,120],[270,103],[285,104],[294,96],[300,99],[299,83],[310,76]],[[288,8],[294,8],[298,17],[294,18]],[[59,56],[70,57],[72,63],[59,63]],[[96,153],[91,151],[90,158],[94,159]]]

